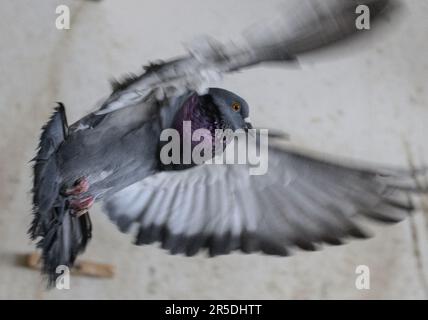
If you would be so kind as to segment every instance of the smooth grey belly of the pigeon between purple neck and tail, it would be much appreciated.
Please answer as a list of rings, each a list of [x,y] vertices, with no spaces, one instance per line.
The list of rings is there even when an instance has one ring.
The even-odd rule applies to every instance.
[[[58,163],[64,185],[71,186],[79,177],[88,179],[95,197],[123,188],[123,181],[144,178],[158,167],[156,151],[162,128],[155,110],[130,115],[129,109],[108,114],[94,126],[70,128],[68,139],[58,150]],[[128,113],[128,114],[127,114]],[[98,119],[95,119],[98,120]],[[143,163],[136,161],[144,159]],[[126,184],[125,184],[126,185]]]

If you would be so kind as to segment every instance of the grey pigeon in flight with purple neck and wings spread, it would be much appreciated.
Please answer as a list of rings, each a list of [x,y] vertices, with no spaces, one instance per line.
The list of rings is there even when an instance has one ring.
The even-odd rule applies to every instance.
[[[292,63],[301,54],[340,45],[360,33],[357,4],[367,5],[372,19],[391,5],[388,0],[302,3],[300,13],[252,28],[244,41],[199,38],[187,55],[113,82],[102,105],[71,125],[58,103],[34,158],[29,229],[42,250],[48,285],[55,283],[57,267],[73,266],[88,245],[88,210],[96,201],[121,231],[134,232],[135,244],[158,242],[187,256],[203,250],[210,256],[238,250],[286,256],[294,248],[316,250],[323,243],[368,237],[357,221],[363,217],[392,223],[413,211],[411,196],[426,191],[414,178],[424,170],[327,159],[284,146],[278,134],[263,149],[268,170],[260,175],[249,174],[249,163],[162,161],[163,132],[176,130],[184,152],[187,122],[191,133],[205,130],[203,140],[220,146],[213,147],[212,158],[230,145],[217,130],[239,132],[249,149],[262,150],[266,143],[260,137],[249,143],[254,129],[248,103],[210,83],[226,73]],[[196,147],[192,143],[190,150]]]

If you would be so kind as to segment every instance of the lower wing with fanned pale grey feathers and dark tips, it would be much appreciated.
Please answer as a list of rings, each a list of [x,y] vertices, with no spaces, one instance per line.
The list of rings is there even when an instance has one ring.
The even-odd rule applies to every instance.
[[[265,175],[247,165],[201,165],[163,172],[121,190],[105,203],[122,231],[136,224],[136,244],[160,242],[171,253],[233,250],[287,255],[364,238],[366,216],[398,222],[413,209],[411,174],[365,170],[269,148]],[[392,175],[394,174],[394,175]],[[406,184],[404,184],[406,183]]]

